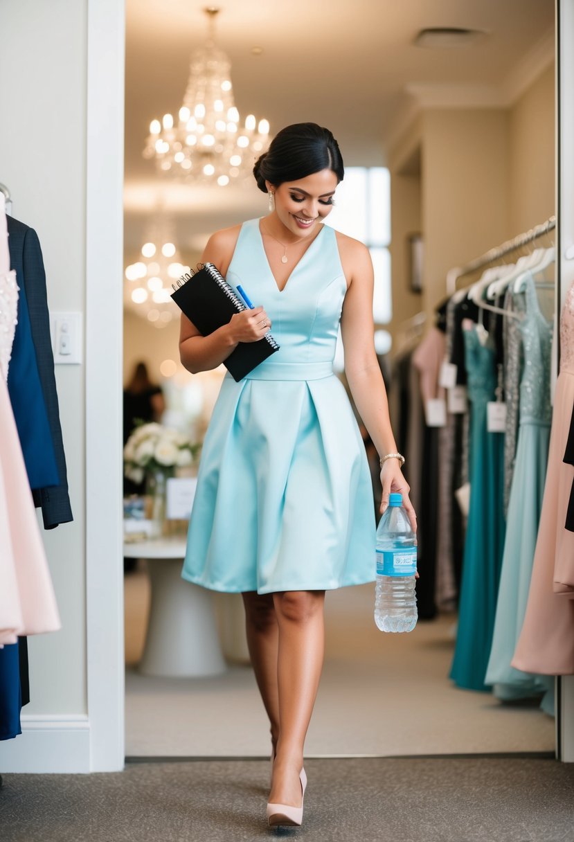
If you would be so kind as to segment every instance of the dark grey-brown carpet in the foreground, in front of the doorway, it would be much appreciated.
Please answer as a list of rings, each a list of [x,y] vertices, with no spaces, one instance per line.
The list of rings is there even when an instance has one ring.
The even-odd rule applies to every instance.
[[[311,759],[301,829],[270,830],[268,764],[130,764],[6,775],[3,842],[571,842],[574,764],[545,759]]]

